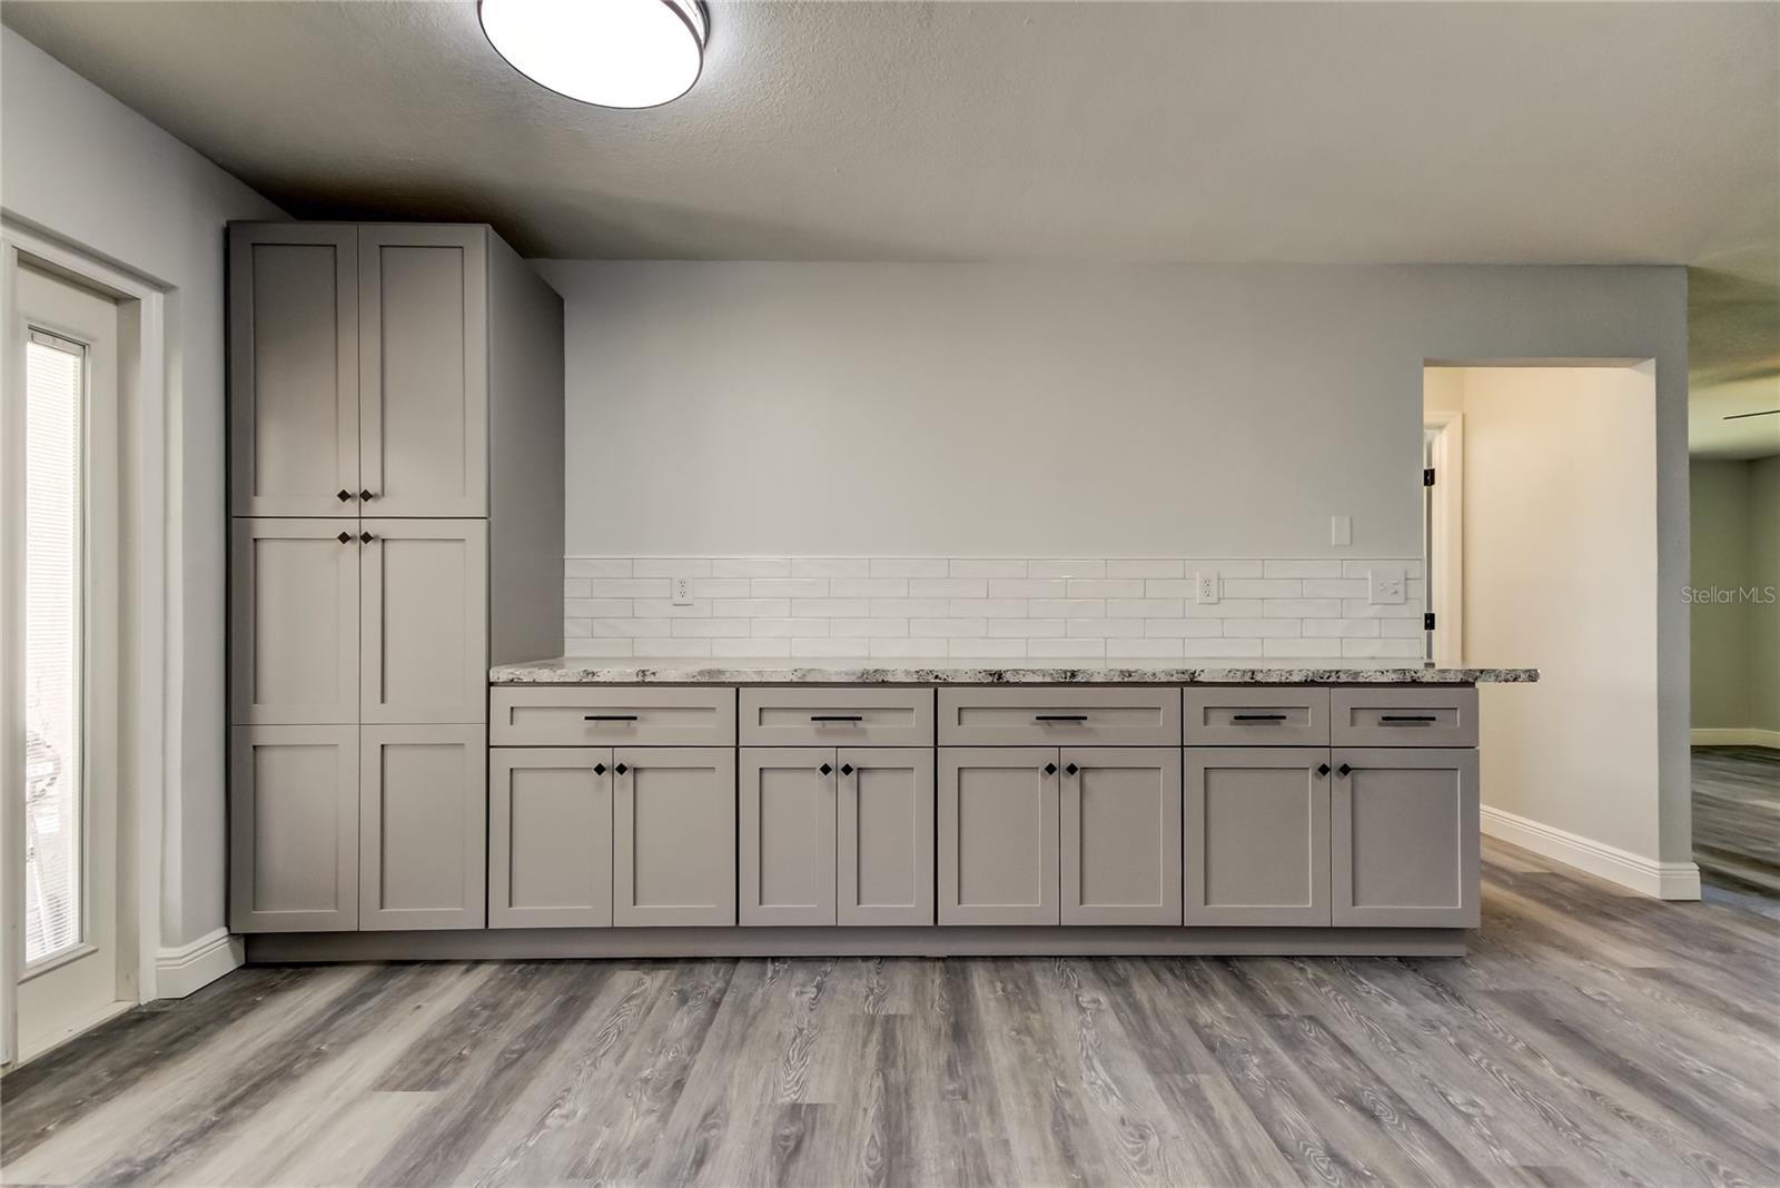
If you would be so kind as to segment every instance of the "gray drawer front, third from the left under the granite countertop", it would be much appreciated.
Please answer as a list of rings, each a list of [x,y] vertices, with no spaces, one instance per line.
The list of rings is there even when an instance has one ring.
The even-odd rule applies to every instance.
[[[942,747],[1178,747],[1180,690],[942,688]]]

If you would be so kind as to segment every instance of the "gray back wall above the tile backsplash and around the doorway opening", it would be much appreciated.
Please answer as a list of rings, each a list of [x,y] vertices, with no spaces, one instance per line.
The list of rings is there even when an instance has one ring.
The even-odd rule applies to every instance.
[[[1680,269],[543,270],[586,555],[1415,555],[1424,361],[1654,359],[1650,857],[1689,857]]]

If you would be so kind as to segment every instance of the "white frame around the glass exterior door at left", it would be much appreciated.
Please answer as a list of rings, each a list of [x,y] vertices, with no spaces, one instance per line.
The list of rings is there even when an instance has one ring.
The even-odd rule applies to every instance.
[[[25,350],[20,341],[16,277],[20,258],[117,301],[117,405],[123,427],[121,452],[134,464],[135,484],[123,493],[117,528],[126,541],[125,573],[117,583],[121,603],[130,603],[130,631],[119,640],[119,662],[134,685],[119,686],[128,706],[117,738],[119,903],[117,964],[134,969],[130,983],[137,1001],[157,998],[155,955],[160,944],[160,841],[166,790],[176,786],[178,701],[169,681],[169,642],[176,624],[167,606],[167,557],[176,537],[169,532],[167,482],[167,301],[171,286],[128,272],[98,254],[48,237],[11,219],[0,219],[0,333],[5,336],[5,388],[23,391]],[[7,459],[5,502],[21,507],[23,466],[11,464],[23,450],[23,402],[5,400],[0,409],[0,457]],[[23,590],[20,518],[0,521],[0,651],[18,654],[23,644]],[[0,679],[0,845],[11,847],[25,831],[23,688]],[[11,850],[7,850],[11,852]],[[0,1064],[18,1055],[18,975],[23,969],[23,932],[18,927],[25,902],[23,863],[7,863],[0,880]]]

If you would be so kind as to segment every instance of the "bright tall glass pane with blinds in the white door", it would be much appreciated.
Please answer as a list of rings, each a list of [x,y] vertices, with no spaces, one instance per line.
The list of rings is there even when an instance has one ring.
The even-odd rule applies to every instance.
[[[85,349],[25,345],[25,964],[84,937]]]

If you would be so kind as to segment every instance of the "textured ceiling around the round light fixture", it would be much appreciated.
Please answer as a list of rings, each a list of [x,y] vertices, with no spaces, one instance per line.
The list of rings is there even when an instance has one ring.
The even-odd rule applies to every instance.
[[[646,112],[516,75],[473,4],[0,14],[301,215],[557,258],[1687,263],[1755,286],[1696,357],[1780,366],[1776,4],[710,9]]]

